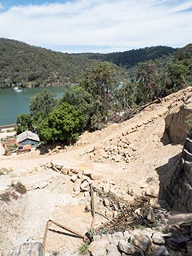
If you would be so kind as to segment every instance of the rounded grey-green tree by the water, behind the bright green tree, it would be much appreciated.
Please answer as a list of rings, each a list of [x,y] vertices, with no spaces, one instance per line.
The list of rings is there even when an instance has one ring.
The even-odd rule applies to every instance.
[[[34,94],[34,97],[30,99],[31,116],[36,119],[36,122],[38,122],[38,118],[41,118],[41,120],[46,118],[46,116],[54,110],[56,102],[57,100],[54,98],[54,93],[50,90],[42,90]],[[38,118],[36,115],[38,115]]]

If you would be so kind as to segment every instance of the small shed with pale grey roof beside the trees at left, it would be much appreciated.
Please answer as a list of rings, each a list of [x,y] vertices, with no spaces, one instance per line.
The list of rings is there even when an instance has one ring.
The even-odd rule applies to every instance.
[[[26,130],[22,134],[18,134],[16,142],[18,142],[19,146],[29,144],[31,146],[37,146],[40,139],[38,134],[34,134],[30,130]]]

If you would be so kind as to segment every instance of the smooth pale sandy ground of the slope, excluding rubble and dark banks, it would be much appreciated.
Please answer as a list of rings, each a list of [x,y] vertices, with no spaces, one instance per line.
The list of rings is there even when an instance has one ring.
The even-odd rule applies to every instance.
[[[42,241],[49,218],[66,222],[70,226],[75,225],[78,230],[87,230],[90,226],[90,214],[85,214],[82,210],[82,205],[85,204],[83,195],[74,198],[69,178],[42,167],[50,161],[62,161],[66,167],[81,170],[91,169],[94,173],[101,174],[101,180],[95,181],[97,184],[113,179],[118,193],[122,191],[122,194],[125,194],[125,191],[133,190],[134,194],[141,194],[146,190],[153,190],[154,194],[158,194],[158,170],[182,150],[180,144],[163,145],[165,117],[178,111],[183,105],[183,97],[190,93],[191,88],[188,88],[170,95],[161,103],[148,106],[126,122],[112,124],[92,134],[86,132],[76,145],[66,150],[51,151],[44,155],[39,154],[38,150],[33,150],[30,153],[6,157],[2,155],[0,147],[0,167],[13,168],[10,174],[0,176],[0,192],[6,190],[11,182],[18,180],[28,190],[17,202],[3,205],[4,210],[10,214],[0,217],[0,222],[11,222],[9,227],[0,228],[3,249],[10,250],[29,240]],[[6,136],[6,133],[0,134],[0,138],[2,136]],[[114,162],[102,157],[107,147],[118,147],[122,150],[122,140],[125,139],[129,143],[123,150],[128,151],[129,162]],[[46,187],[34,189],[39,182],[46,182]],[[6,235],[7,233],[11,235]],[[54,242],[51,242],[52,239]],[[81,243],[78,239],[70,239],[78,246]],[[59,249],[63,244],[61,234],[49,234],[46,250]]]

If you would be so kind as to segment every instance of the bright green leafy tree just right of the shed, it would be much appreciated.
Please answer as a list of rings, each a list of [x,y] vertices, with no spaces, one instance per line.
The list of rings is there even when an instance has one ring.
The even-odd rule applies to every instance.
[[[82,133],[85,117],[67,102],[51,112],[38,126],[39,136],[44,142],[62,142],[66,145],[76,142]]]

